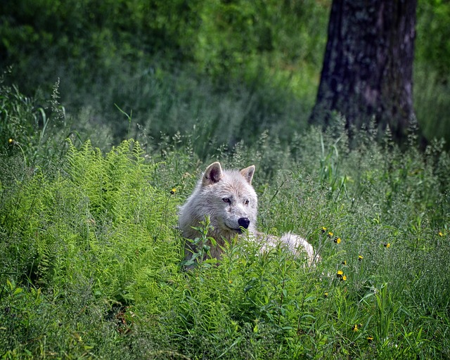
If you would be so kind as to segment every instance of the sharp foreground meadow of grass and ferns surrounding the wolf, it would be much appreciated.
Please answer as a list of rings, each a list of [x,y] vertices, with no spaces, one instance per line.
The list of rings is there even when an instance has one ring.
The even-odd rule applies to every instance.
[[[413,132],[404,152],[376,134],[350,146],[337,120],[290,146],[264,134],[212,155],[257,166],[259,229],[307,237],[322,257],[313,269],[243,240],[218,266],[181,271],[176,206],[207,165],[189,136],[157,151],[69,141],[39,166],[7,148],[0,355],[447,358],[449,154],[438,142],[421,153]]]

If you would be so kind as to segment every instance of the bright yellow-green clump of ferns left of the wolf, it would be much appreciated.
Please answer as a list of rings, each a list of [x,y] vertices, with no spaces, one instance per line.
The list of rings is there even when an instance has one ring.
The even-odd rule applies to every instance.
[[[141,293],[136,278],[145,283],[158,276],[150,268],[179,256],[176,243],[169,245],[172,198],[150,185],[157,165],[135,141],[105,155],[89,141],[79,150],[69,143],[66,158],[56,176],[38,172],[19,183],[1,212],[3,229],[18,239],[8,246],[18,260],[15,271],[61,289],[71,278],[95,278],[94,293],[131,301]]]

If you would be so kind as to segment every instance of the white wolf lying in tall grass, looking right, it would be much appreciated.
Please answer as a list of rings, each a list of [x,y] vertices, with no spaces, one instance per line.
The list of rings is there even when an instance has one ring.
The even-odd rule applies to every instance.
[[[309,265],[316,263],[318,255],[314,248],[304,238],[293,233],[285,233],[281,238],[268,236],[257,232],[258,200],[252,187],[255,165],[240,171],[224,170],[219,162],[207,167],[195,190],[179,210],[179,227],[185,238],[195,239],[200,236],[198,230],[200,221],[210,217],[212,231],[208,236],[216,240],[217,245],[209,242],[212,258],[221,259],[225,240],[231,242],[246,229],[250,238],[261,243],[261,251],[275,247],[281,243],[283,247],[293,252],[297,257],[306,255]],[[198,252],[195,245],[186,241],[185,260],[190,260],[193,252]]]

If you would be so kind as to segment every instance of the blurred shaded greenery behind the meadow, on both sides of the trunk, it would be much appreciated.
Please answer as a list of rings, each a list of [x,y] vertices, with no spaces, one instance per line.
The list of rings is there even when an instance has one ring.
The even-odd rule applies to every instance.
[[[77,131],[101,134],[92,141],[102,148],[176,131],[214,146],[264,130],[286,142],[307,128],[329,10],[311,0],[6,0],[0,64],[38,99],[59,78]],[[420,0],[417,16],[418,122],[429,141],[450,139],[450,6]],[[131,127],[114,104],[133,111]]]

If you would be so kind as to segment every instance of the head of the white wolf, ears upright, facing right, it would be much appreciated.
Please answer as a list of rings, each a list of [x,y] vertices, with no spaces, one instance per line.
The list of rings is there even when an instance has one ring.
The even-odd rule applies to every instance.
[[[256,232],[257,195],[252,187],[255,165],[224,170],[219,162],[207,167],[193,194],[180,209],[179,223],[184,236],[192,238],[191,227],[210,217],[216,240],[231,240],[247,229]],[[196,235],[198,236],[198,235]]]

